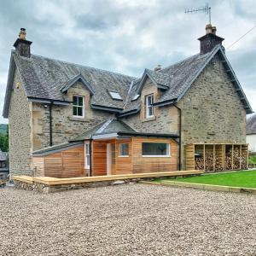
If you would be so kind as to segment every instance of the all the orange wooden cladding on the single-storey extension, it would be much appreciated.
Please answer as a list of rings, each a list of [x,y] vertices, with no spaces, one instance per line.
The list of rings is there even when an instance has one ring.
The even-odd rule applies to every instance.
[[[128,155],[119,155],[119,144],[122,143],[128,144]],[[168,143],[170,155],[143,156],[143,143]],[[107,148],[110,148],[110,153]],[[91,174],[102,176],[177,171],[177,148],[174,140],[166,138],[132,137],[93,141]],[[82,177],[90,172],[84,169],[84,145],[43,157],[33,157],[33,166],[37,169],[36,176]]]

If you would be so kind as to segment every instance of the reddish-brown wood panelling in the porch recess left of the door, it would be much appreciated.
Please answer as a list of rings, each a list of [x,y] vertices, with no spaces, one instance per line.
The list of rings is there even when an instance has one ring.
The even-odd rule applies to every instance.
[[[107,143],[92,143],[92,175],[107,175]]]

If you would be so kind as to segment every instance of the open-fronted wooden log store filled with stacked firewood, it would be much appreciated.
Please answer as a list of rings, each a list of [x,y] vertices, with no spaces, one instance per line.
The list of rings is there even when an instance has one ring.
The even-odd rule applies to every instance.
[[[221,172],[248,168],[247,144],[189,144],[185,153],[186,170]]]

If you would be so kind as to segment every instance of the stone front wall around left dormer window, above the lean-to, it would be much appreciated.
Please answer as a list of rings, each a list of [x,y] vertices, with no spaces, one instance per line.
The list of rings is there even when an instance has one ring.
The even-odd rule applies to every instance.
[[[52,137],[54,145],[67,142],[70,138],[89,130],[112,116],[110,113],[90,108],[90,92],[84,88],[83,84],[78,82],[68,90],[69,101],[73,100],[73,95],[84,96],[85,116],[81,119],[74,118],[72,104],[53,106]],[[49,147],[49,107],[44,108],[44,104],[33,103],[32,120],[33,150]]]

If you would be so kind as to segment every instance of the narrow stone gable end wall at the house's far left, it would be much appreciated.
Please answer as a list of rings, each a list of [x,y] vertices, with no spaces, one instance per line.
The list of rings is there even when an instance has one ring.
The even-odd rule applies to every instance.
[[[15,71],[14,90],[9,107],[9,172],[31,175],[32,103],[27,102],[20,74]]]

